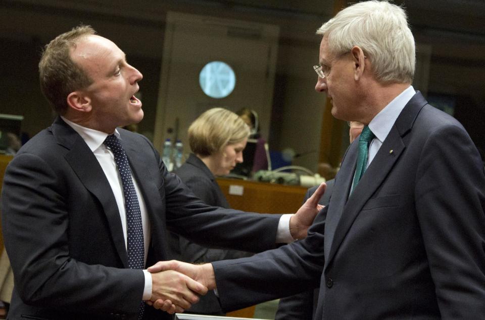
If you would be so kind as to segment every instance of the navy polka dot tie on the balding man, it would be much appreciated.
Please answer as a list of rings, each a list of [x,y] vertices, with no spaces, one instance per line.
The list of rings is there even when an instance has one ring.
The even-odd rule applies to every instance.
[[[115,135],[109,135],[105,140],[105,145],[111,149],[115,156],[116,166],[121,176],[123,184],[123,194],[125,196],[125,211],[127,224],[127,246],[128,246],[128,267],[130,269],[143,269],[144,245],[143,227],[141,225],[141,211],[136,196],[135,186],[131,179],[131,169],[126,157],[125,150]],[[144,303],[141,303],[138,319],[143,317]]]

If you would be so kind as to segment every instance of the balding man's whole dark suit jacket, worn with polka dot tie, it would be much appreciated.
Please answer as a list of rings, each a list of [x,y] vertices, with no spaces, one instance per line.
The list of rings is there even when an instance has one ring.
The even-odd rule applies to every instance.
[[[147,138],[119,132],[151,222],[148,266],[169,257],[167,227],[207,245],[275,247],[277,215],[207,206],[167,171]],[[61,118],[7,167],[2,225],[15,278],[10,318],[136,318],[144,277],[127,269],[114,195],[91,150]],[[149,306],[144,313],[165,317]]]

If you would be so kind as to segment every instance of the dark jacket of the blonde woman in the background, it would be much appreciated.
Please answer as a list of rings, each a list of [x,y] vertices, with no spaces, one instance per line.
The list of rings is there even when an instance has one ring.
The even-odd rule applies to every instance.
[[[195,154],[190,154],[187,161],[174,171],[176,175],[199,197],[205,204],[215,207],[230,208],[221,188],[209,170],[209,168]],[[190,262],[205,263],[224,259],[236,259],[249,257],[245,251],[208,248],[186,237],[170,232],[170,249],[174,253],[174,259]],[[186,312],[200,314],[224,314],[219,304],[219,299],[210,290],[200,301]]]

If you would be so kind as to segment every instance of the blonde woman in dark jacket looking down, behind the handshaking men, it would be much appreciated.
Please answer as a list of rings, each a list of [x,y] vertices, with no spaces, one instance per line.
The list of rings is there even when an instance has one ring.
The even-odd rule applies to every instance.
[[[249,135],[249,126],[234,112],[224,108],[209,109],[189,126],[188,140],[192,153],[174,172],[206,204],[230,208],[216,176],[229,174],[237,163],[243,162],[243,150]],[[210,249],[174,233],[170,238],[175,259],[184,262],[206,263],[250,255],[244,251]],[[202,296],[200,302],[186,312],[224,314],[213,291]]]

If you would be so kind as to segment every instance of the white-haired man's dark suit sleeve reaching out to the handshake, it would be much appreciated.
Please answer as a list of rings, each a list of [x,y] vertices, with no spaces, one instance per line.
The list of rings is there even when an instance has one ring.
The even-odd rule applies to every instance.
[[[325,215],[326,208],[303,240],[250,258],[213,262],[223,309],[244,308],[317,287],[324,265]]]

